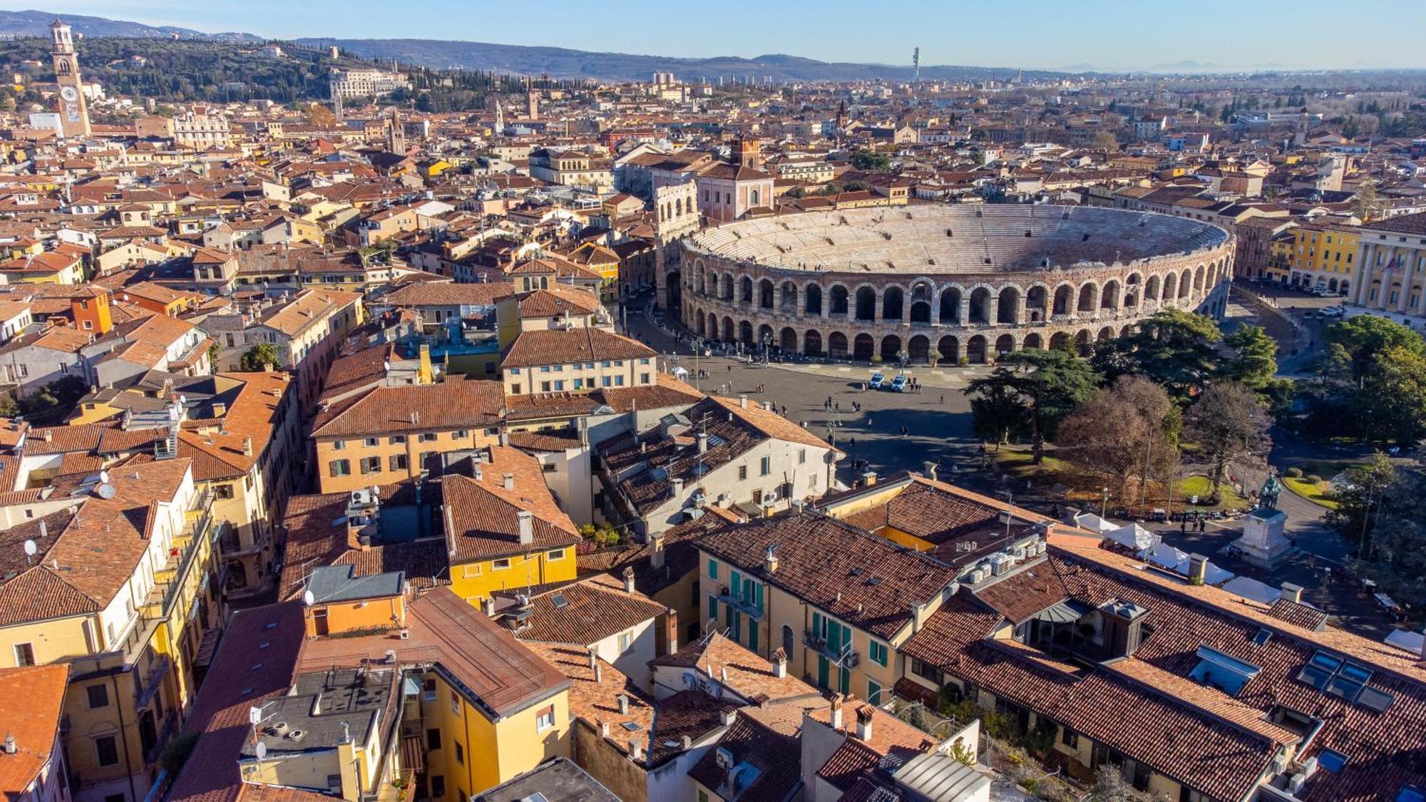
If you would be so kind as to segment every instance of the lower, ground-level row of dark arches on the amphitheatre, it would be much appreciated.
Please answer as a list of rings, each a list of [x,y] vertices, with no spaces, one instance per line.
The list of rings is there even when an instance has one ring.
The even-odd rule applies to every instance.
[[[1111,325],[1098,330],[1081,328],[1078,331],[1057,331],[1045,338],[1041,333],[1001,334],[987,337],[974,334],[971,337],[931,337],[913,334],[903,338],[898,334],[877,337],[870,333],[848,335],[843,331],[823,333],[809,328],[799,333],[790,325],[774,330],[769,324],[757,325],[750,320],[734,321],[724,315],[706,314],[697,310],[693,328],[700,335],[716,342],[739,342],[749,348],[760,348],[764,344],[780,348],[789,354],[804,354],[809,357],[830,357],[833,360],[851,358],[856,361],[870,361],[873,355],[886,362],[897,362],[903,357],[910,364],[927,364],[933,358],[943,364],[957,364],[964,357],[970,364],[984,364],[998,355],[1028,348],[1072,348],[1081,357],[1088,357],[1097,342],[1125,335],[1134,331],[1134,325],[1115,328]]]

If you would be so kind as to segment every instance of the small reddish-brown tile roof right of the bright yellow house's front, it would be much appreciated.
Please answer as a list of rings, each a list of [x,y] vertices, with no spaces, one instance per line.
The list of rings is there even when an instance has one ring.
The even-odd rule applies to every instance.
[[[530,621],[516,632],[520,641],[579,646],[592,646],[667,611],[645,595],[623,592],[603,574],[533,595],[530,606]]]

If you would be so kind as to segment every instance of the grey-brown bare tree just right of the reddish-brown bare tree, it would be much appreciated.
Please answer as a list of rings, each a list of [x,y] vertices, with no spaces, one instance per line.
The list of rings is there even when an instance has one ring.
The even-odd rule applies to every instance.
[[[1214,482],[1212,497],[1231,465],[1256,465],[1266,460],[1268,412],[1252,388],[1221,381],[1209,384],[1185,417],[1185,441],[1198,448]]]

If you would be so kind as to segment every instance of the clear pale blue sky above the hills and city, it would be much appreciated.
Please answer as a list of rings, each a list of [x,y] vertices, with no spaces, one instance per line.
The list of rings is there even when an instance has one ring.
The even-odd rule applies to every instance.
[[[54,0],[271,37],[461,39],[657,56],[1060,68],[1426,67],[1426,0]],[[713,11],[716,10],[716,11]]]

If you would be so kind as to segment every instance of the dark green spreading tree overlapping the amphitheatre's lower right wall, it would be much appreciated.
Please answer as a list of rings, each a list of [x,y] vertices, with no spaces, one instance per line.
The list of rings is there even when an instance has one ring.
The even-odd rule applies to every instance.
[[[1218,368],[1221,338],[1218,323],[1211,317],[1161,310],[1138,331],[1101,344],[1091,361],[1105,381],[1125,374],[1145,375],[1162,385],[1174,401],[1188,404]]]

